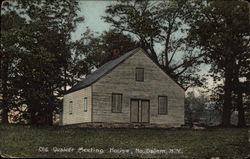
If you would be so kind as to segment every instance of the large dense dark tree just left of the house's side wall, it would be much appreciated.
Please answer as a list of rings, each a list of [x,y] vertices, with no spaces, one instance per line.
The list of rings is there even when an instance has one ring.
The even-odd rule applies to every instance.
[[[26,117],[32,124],[52,124],[53,113],[62,105],[59,97],[71,59],[70,33],[83,20],[77,17],[78,3],[16,1],[11,5],[13,12],[16,10],[17,15],[25,18],[22,30],[13,36],[20,51],[15,64],[14,88],[18,90],[19,99],[24,99]]]

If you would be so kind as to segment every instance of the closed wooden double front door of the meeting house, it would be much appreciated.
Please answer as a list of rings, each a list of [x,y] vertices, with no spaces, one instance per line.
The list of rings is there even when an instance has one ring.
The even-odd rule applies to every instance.
[[[131,123],[149,123],[149,100],[131,99]]]

